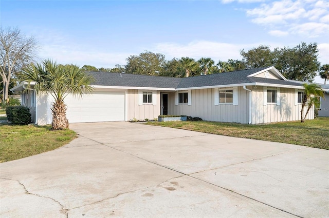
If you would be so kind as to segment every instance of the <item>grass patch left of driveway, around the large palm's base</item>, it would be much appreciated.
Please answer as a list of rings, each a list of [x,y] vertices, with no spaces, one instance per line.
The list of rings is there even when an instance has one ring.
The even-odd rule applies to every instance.
[[[0,163],[59,148],[76,137],[69,129],[50,129],[51,126],[0,124]]]

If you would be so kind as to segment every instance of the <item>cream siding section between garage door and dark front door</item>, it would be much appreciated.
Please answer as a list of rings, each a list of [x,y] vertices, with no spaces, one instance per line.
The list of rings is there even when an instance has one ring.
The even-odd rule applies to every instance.
[[[156,104],[138,104],[138,90],[129,89],[128,90],[128,121],[136,118],[137,120],[144,121],[145,119],[153,120],[160,115],[160,91],[145,90],[148,92],[153,92],[156,94]],[[154,97],[152,95],[152,100]]]

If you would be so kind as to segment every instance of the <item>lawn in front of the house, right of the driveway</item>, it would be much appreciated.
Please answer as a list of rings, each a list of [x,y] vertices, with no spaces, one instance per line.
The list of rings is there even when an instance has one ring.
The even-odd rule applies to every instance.
[[[297,121],[262,125],[208,121],[149,122],[147,124],[329,150],[329,117],[306,120],[305,123]]]

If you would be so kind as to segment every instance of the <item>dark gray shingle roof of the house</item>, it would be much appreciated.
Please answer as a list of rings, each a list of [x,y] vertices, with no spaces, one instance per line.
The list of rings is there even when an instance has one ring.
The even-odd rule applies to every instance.
[[[193,88],[205,86],[220,86],[230,84],[245,84],[245,83],[268,83],[278,85],[293,85],[302,86],[299,83],[284,80],[273,80],[260,77],[248,77],[253,73],[263,69],[247,69],[233,72],[215,73],[203,76],[193,76],[184,78],[149,76],[129,73],[109,73],[109,72],[88,72],[95,77],[95,82],[92,85],[100,86],[122,86],[122,87],[154,87],[154,88]],[[121,76],[120,76],[121,75]]]

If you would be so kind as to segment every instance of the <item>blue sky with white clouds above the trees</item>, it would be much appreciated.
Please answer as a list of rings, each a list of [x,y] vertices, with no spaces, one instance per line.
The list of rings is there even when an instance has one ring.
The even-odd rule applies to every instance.
[[[217,63],[241,59],[241,49],[301,42],[318,43],[319,61],[329,63],[329,2],[322,0],[1,0],[0,12],[3,27],[35,36],[39,57],[61,64],[114,67],[145,50]]]

